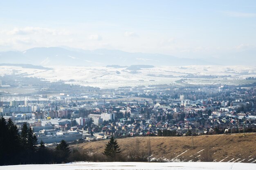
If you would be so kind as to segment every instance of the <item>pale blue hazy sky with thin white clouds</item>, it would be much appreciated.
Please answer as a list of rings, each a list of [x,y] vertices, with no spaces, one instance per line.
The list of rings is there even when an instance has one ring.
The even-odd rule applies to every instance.
[[[0,51],[49,46],[256,57],[256,1],[0,1]]]

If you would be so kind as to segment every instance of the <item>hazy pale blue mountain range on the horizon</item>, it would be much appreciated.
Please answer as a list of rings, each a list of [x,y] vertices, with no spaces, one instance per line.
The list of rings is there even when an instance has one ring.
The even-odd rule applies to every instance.
[[[230,61],[231,62],[231,61]],[[232,63],[230,63],[232,65]],[[106,66],[106,65],[227,65],[209,59],[186,59],[164,54],[124,52],[121,50],[82,50],[61,47],[31,48],[25,51],[0,52],[0,63],[33,65],[70,65],[70,66]],[[234,63],[233,63],[234,64]]]

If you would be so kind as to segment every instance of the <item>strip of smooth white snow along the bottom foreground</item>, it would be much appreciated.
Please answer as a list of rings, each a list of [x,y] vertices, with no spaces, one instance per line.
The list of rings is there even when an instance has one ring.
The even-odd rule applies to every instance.
[[[256,163],[231,162],[79,162],[0,166],[0,170],[255,170]]]

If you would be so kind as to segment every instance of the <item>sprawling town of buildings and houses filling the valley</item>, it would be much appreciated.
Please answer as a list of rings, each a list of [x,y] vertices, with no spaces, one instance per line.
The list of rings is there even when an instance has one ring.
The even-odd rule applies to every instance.
[[[110,136],[191,136],[256,132],[256,88],[122,87],[9,98],[0,115],[31,126],[46,144]]]

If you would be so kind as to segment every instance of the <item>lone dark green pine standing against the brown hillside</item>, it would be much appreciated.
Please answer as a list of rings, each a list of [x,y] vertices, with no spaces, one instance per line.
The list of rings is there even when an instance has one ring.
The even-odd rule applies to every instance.
[[[106,144],[104,155],[114,158],[121,150],[117,144],[117,140],[112,136],[110,141]]]

